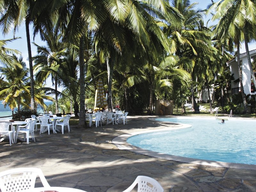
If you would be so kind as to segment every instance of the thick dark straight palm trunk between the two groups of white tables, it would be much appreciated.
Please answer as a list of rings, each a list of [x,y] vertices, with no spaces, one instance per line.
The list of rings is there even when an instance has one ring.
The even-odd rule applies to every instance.
[[[84,36],[79,43],[79,72],[80,72],[80,112],[78,128],[85,128],[85,78],[84,78]]]

